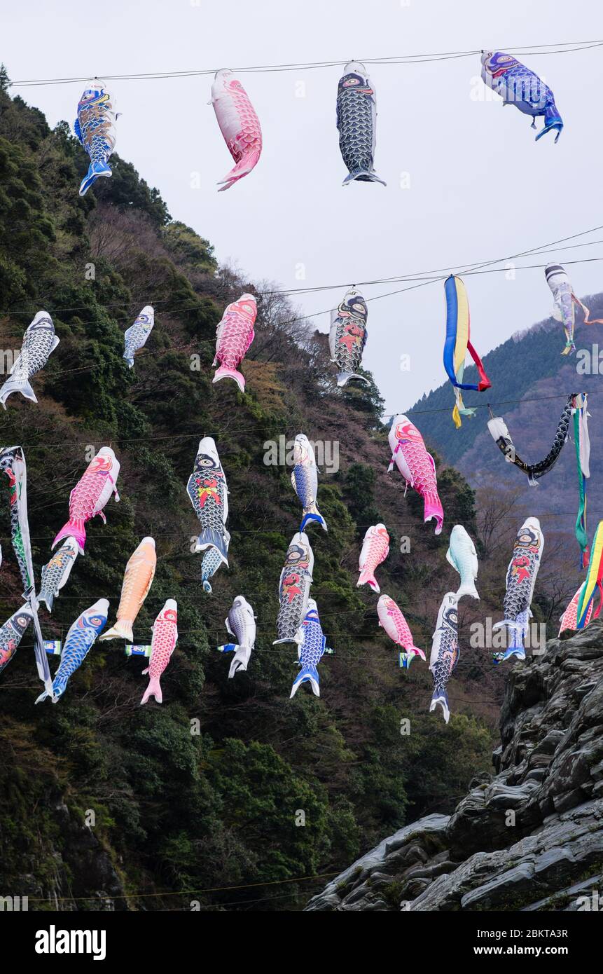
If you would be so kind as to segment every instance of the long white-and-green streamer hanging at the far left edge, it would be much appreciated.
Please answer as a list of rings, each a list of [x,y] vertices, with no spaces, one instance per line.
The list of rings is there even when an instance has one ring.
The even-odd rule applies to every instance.
[[[38,676],[46,690],[53,687],[53,678],[44,648],[44,639],[38,619],[38,603],[35,593],[31,542],[29,540],[29,520],[27,518],[27,468],[25,455],[20,446],[7,446],[0,450],[0,470],[3,470],[10,484],[11,541],[19,564],[23,582],[23,599],[29,607],[35,632],[35,657]]]

